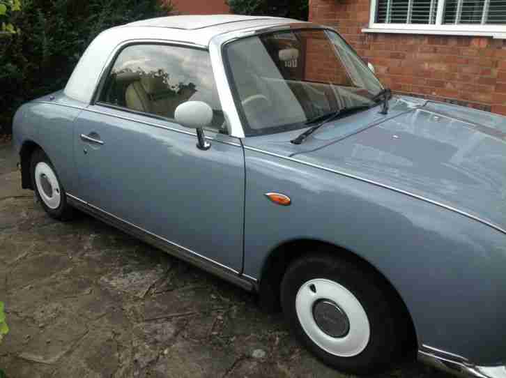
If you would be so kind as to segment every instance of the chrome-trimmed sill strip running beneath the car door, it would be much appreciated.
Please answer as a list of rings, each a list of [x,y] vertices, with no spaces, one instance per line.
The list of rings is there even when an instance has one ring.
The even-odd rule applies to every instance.
[[[164,250],[164,252],[169,253],[169,255],[173,255],[174,257],[183,259],[190,264],[199,266],[199,268],[204,269],[210,273],[215,273],[221,278],[224,278],[229,282],[232,282],[240,287],[243,287],[243,289],[246,289],[248,291],[256,289],[255,285],[256,280],[250,278],[250,276],[242,275],[239,271],[236,271],[235,269],[232,269],[229,266],[220,264],[219,262],[216,262],[213,259],[210,259],[193,250],[190,250],[190,248],[183,247],[183,245],[174,243],[173,241],[169,241],[168,239],[165,239],[162,236],[159,236],[142,227],[139,227],[133,224],[132,222],[128,222],[128,220],[124,220],[118,216],[115,216],[112,213],[109,213],[108,211],[100,209],[100,207],[98,206],[89,204],[88,202],[84,201],[83,199],[80,199],[75,195],[66,193],[66,196],[68,197],[68,199],[70,199],[71,203],[73,202],[74,206],[77,206],[79,209],[82,209],[83,211],[90,213],[93,216],[97,216],[97,218],[99,218],[100,220],[112,223],[113,226],[123,229],[123,231],[128,232],[129,234],[133,234],[134,236],[137,236],[137,233],[139,233],[141,234],[141,236],[149,236],[151,237],[151,239],[155,239],[155,241],[158,241],[158,243],[153,243],[151,239],[146,240],[143,238],[144,241],[151,243],[152,245],[155,245],[155,247],[162,248],[162,250]]]

